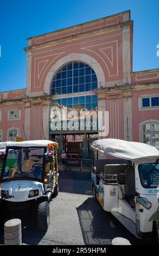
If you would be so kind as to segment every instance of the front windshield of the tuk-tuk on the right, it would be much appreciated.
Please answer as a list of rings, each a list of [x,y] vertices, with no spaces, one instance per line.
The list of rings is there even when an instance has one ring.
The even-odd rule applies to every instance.
[[[145,188],[159,185],[159,163],[139,164],[139,175]]]

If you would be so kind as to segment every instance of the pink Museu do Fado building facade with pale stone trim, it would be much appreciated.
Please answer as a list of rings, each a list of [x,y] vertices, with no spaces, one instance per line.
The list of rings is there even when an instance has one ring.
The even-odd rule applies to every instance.
[[[1,141],[53,139],[51,106],[58,102],[108,111],[107,138],[159,148],[159,69],[133,72],[130,11],[27,41],[26,89],[0,93]],[[78,131],[59,133],[83,138]]]

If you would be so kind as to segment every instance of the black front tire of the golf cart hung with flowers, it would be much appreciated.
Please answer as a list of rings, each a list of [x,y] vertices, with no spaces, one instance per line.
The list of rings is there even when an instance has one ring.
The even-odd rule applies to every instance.
[[[47,231],[50,221],[50,209],[47,201],[39,202],[37,215],[38,229],[41,231]]]

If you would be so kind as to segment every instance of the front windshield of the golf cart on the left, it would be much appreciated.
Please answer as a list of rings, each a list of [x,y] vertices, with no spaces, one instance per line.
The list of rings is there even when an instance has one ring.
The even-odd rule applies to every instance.
[[[8,150],[3,167],[3,181],[9,179],[42,179],[44,148],[13,148]]]

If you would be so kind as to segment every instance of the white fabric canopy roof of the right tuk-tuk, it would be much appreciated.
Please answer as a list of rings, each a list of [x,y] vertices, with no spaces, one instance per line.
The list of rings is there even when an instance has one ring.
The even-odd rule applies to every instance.
[[[99,139],[91,147],[101,152],[102,156],[109,155],[130,160],[136,164],[154,163],[159,159],[159,151],[148,144],[122,141],[121,139]]]

